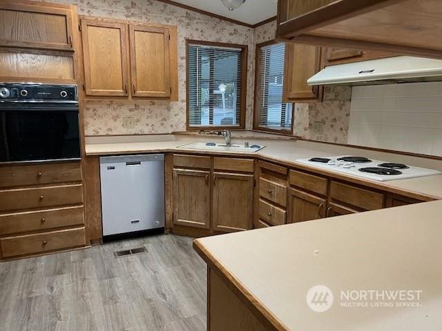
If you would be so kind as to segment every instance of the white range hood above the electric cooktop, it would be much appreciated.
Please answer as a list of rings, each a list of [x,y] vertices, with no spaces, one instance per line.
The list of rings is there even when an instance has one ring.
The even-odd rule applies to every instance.
[[[442,81],[442,60],[424,57],[389,57],[328,66],[307,80],[314,85],[378,85]]]

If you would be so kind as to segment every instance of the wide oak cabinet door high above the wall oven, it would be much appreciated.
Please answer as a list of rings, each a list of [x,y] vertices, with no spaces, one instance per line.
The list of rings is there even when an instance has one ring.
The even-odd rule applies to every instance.
[[[0,45],[73,50],[72,12],[50,5],[0,3]]]

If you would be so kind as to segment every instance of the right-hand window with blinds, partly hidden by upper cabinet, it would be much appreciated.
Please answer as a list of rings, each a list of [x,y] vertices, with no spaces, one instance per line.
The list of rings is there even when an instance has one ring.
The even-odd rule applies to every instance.
[[[253,128],[290,134],[293,103],[282,101],[285,44],[274,41],[258,44],[256,54]]]

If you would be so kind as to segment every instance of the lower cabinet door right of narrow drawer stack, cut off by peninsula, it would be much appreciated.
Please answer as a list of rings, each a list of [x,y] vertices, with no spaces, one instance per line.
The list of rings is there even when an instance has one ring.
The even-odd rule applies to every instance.
[[[322,219],[325,217],[326,203],[325,199],[291,188],[289,190],[289,219],[287,223]]]

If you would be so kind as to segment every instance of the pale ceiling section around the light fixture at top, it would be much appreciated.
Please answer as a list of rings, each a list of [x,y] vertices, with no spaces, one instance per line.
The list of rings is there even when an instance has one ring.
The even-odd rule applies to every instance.
[[[240,8],[231,12],[222,4],[221,0],[174,0],[171,2],[181,3],[252,26],[275,17],[278,3],[277,0],[246,0]]]

